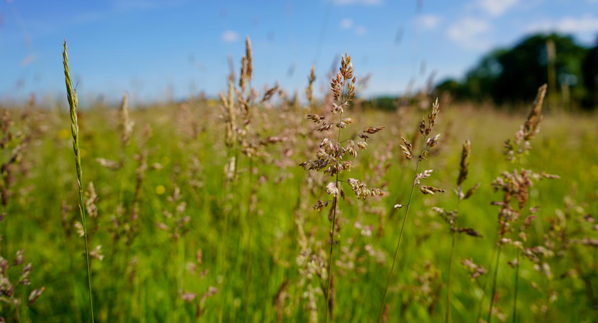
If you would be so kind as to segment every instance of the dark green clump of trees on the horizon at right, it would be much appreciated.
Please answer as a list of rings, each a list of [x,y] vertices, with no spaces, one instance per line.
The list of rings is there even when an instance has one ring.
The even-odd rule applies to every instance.
[[[554,44],[554,55],[549,54],[549,42]],[[597,66],[596,52],[593,58],[586,59],[588,52],[587,48],[576,44],[572,36],[532,35],[510,49],[491,51],[462,81],[445,80],[436,90],[450,91],[456,99],[492,99],[499,104],[528,102],[535,96],[538,86],[549,83],[549,74],[552,74],[553,93],[549,95],[560,98],[562,84],[566,84],[573,102],[587,102],[588,92],[596,93]],[[591,69],[593,78],[587,76],[587,68],[582,67],[584,59],[594,68]],[[590,89],[588,84],[594,85]]]

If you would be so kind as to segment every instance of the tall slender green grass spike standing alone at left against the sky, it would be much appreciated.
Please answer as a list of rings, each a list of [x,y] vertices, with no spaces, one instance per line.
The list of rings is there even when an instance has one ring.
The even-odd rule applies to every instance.
[[[71,71],[69,70],[69,59],[66,54],[66,39],[64,42],[64,51],[62,52],[63,65],[65,68],[66,99],[69,102],[71,112],[71,133],[73,137],[73,151],[75,153],[75,168],[77,169],[77,184],[79,185],[79,213],[81,215],[81,224],[83,225],[83,237],[85,239],[85,259],[87,262],[87,284],[89,287],[89,309],[91,322],[93,323],[93,299],[91,297],[91,271],[89,267],[89,250],[87,246],[87,227],[85,221],[85,208],[83,200],[83,187],[81,185],[83,171],[81,169],[81,154],[79,151],[79,124],[77,121],[77,90],[73,89],[71,81]]]

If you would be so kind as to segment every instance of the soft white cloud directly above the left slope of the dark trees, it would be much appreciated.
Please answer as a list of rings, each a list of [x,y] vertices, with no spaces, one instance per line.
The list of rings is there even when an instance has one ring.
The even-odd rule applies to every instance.
[[[490,29],[490,24],[486,20],[465,17],[449,26],[447,36],[463,47],[486,50],[490,42],[481,36]]]

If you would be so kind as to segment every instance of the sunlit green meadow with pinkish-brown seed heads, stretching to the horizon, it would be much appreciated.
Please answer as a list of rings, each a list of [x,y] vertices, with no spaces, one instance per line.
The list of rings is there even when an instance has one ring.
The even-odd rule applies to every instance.
[[[306,117],[337,117],[331,114],[334,98],[327,83],[315,81],[311,103],[304,95],[293,100],[275,88],[271,98],[262,90],[252,98],[248,82],[246,90],[231,92],[232,99],[223,93],[224,104],[194,97],[126,109],[77,109],[96,321],[379,319],[405,218],[406,207],[394,206],[407,205],[413,188],[415,163],[405,160],[401,137],[419,152],[418,124],[423,117],[428,120],[435,97],[417,96],[392,112],[377,111],[359,99],[345,106],[342,116],[352,118],[352,124],[340,129],[341,140],[364,127],[385,128],[368,135],[367,149],[358,149],[357,158],[343,157],[354,167],[338,179],[357,178],[385,196],[357,199],[349,183],[339,182],[346,198],[339,194],[336,203],[318,211],[313,207],[318,200],[336,200],[327,193],[334,176],[299,164],[315,159],[322,139],[337,141],[337,127],[317,132],[321,124]],[[238,79],[231,84],[241,88]],[[544,103],[532,149],[510,162],[504,142],[514,138],[531,108],[532,102],[511,111],[441,97],[431,132],[441,136],[418,172],[433,169],[422,184],[446,192],[415,189],[380,321],[486,321],[495,272],[493,322],[512,321],[515,290],[518,322],[598,321],[593,218],[598,211],[598,115],[548,111]],[[7,322],[89,322],[68,106],[44,109],[32,103],[7,111],[0,316]],[[231,116],[236,124],[231,125]],[[466,139],[471,151],[463,191],[481,184],[459,202],[453,190]],[[501,236],[517,240],[519,228],[527,226],[526,239],[519,239],[520,248],[506,240],[499,243],[495,267],[501,206],[491,202],[504,201],[504,196],[491,184],[504,171],[523,168],[560,178],[530,185],[521,216]],[[477,234],[452,233],[434,207],[458,207],[456,228]],[[515,200],[512,207],[519,210]],[[532,213],[536,219],[523,224]],[[329,215],[335,218],[335,234],[328,283]],[[24,261],[16,260],[19,251]],[[526,252],[529,257],[523,257]],[[508,263],[517,258],[518,270]],[[485,270],[472,278],[472,267],[463,260]],[[28,263],[30,272],[23,269]],[[28,284],[19,284],[25,272]],[[30,303],[30,293],[41,287],[41,295]]]

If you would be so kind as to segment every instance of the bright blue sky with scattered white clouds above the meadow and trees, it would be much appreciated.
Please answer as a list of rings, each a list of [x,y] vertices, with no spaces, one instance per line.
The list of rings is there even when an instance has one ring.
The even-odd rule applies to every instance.
[[[254,86],[279,81],[303,93],[316,65],[318,90],[335,57],[348,51],[362,95],[403,92],[460,77],[482,54],[532,32],[598,36],[598,0],[304,0],[0,2],[0,102],[62,99],[62,41],[80,102],[123,91],[136,102],[225,87],[228,57],[238,70],[252,39]]]

